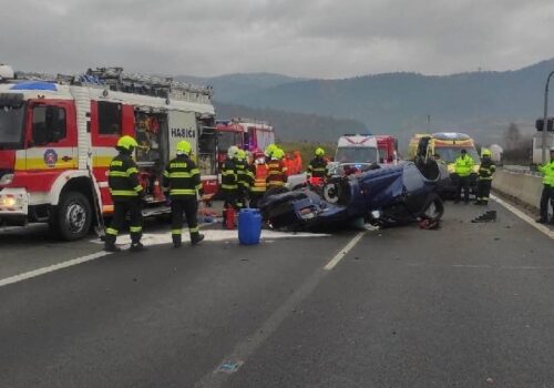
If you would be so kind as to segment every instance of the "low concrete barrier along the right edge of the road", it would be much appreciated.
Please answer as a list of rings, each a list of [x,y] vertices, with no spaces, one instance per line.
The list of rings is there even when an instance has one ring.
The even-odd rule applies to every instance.
[[[541,176],[499,169],[494,173],[492,187],[537,208],[543,192],[543,180]]]

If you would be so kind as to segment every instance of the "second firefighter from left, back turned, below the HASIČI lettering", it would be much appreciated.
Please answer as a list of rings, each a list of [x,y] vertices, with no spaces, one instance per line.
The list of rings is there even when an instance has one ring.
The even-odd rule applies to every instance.
[[[163,176],[163,188],[172,206],[173,246],[181,246],[183,212],[185,213],[191,244],[196,245],[204,239],[199,233],[196,213],[198,212],[198,193],[202,195],[201,172],[191,159],[193,147],[187,141],[177,143],[177,156],[170,161]]]

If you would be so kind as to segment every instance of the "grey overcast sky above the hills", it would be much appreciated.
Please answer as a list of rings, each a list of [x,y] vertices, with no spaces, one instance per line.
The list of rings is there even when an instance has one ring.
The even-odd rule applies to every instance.
[[[0,62],[347,78],[554,57],[553,0],[1,0]]]

